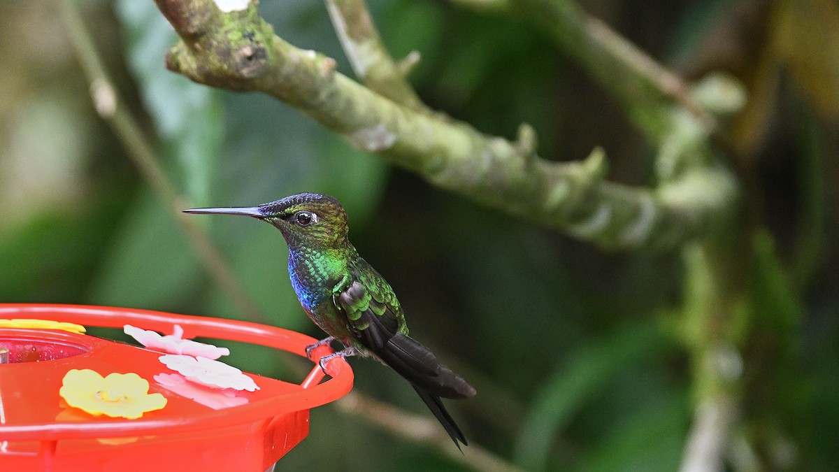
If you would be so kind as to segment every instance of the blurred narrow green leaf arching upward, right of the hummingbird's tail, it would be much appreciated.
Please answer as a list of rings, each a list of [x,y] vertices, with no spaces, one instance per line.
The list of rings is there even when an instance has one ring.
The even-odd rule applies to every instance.
[[[536,394],[516,441],[516,464],[528,470],[545,469],[555,435],[586,401],[610,385],[620,370],[653,354],[661,344],[660,329],[648,322],[620,329],[572,353]]]

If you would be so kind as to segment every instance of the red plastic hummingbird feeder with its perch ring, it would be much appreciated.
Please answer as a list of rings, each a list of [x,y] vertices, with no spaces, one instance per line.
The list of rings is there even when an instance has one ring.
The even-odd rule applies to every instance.
[[[0,319],[38,318],[86,327],[138,328],[184,338],[217,338],[260,344],[305,357],[315,339],[282,328],[219,318],[190,317],[113,307],[0,304]],[[54,329],[0,328],[0,470],[270,470],[309,433],[309,410],[352,389],[343,359],[328,364],[331,379],[315,364],[302,384],[249,375],[257,391],[227,396],[204,389],[182,396],[154,379],[172,374],[159,352]],[[329,354],[323,346],[315,359]],[[8,359],[5,359],[7,358]],[[164,408],[138,419],[94,416],[59,396],[69,370],[102,376],[133,372],[162,394]],[[215,395],[215,396],[214,396]]]

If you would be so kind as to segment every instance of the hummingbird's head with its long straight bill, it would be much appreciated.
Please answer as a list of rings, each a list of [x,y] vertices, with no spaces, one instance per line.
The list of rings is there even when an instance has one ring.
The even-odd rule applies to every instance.
[[[258,207],[190,208],[186,213],[245,215],[273,224],[289,248],[339,249],[347,244],[347,212],[335,197],[298,193]]]

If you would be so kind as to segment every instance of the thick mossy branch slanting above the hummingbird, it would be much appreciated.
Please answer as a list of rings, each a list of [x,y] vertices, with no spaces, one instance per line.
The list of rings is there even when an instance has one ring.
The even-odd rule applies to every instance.
[[[653,191],[604,181],[602,151],[556,163],[519,142],[417,111],[335,71],[335,60],[274,34],[255,2],[222,13],[212,0],[155,0],[181,41],[166,64],[191,80],[279,98],[360,149],[435,186],[603,247],[668,247],[700,234],[727,207],[722,167],[696,167]],[[727,185],[722,185],[723,190]]]

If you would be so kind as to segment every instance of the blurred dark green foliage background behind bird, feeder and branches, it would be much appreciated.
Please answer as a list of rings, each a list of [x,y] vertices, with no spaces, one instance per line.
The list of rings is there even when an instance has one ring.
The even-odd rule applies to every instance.
[[[759,369],[747,372],[756,386],[741,433],[760,438],[763,469],[839,469],[839,5],[581,5],[682,76],[722,70],[748,89],[747,107],[726,123],[731,165],[745,189],[743,218],[777,255],[765,276],[783,306],[766,309],[784,328],[744,348]],[[410,81],[431,108],[507,138],[531,123],[550,160],[601,145],[611,180],[651,183],[654,149],[529,24],[437,0],[369,6],[394,57],[420,51]],[[474,400],[447,402],[470,442],[529,469],[678,468],[694,404],[673,328],[677,250],[609,253],[438,191],[283,103],[166,71],[175,35],[150,0],[81,7],[119,94],[190,203],[251,206],[318,191],[345,204],[353,244],[399,295],[412,335],[477,387]],[[264,1],[260,11],[281,37],[352,76],[322,3]],[[65,27],[52,2],[0,3],[0,302],[241,318],[96,115]],[[322,337],[291,290],[279,232],[196,218],[263,323]],[[256,349],[237,348],[232,363],[292,375],[284,359]],[[389,370],[352,366],[357,391],[427,413]],[[463,469],[334,406],[312,412],[309,438],[280,465]]]

